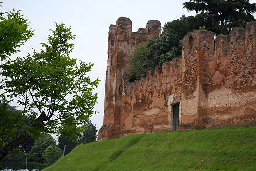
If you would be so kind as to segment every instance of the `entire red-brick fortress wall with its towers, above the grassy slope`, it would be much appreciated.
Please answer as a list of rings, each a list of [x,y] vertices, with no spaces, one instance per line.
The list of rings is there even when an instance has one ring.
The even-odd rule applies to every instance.
[[[131,25],[124,17],[110,25],[98,140],[175,131],[177,110],[178,130],[256,125],[256,22],[216,38],[210,31],[194,31],[183,38],[181,59],[134,82],[127,80],[127,57],[138,44],[159,36],[161,23],[148,21],[138,32],[131,32]]]

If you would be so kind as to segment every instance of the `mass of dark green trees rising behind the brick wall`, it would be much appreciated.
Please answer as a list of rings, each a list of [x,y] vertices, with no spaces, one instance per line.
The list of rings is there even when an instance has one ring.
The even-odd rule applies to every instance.
[[[129,81],[139,79],[150,69],[160,67],[164,62],[180,58],[182,39],[189,31],[206,29],[218,34],[229,34],[231,28],[245,27],[255,21],[252,13],[256,12],[256,4],[248,0],[190,0],[183,3],[183,8],[196,11],[196,16],[185,17],[165,23],[159,37],[148,40],[135,48],[129,57]]]

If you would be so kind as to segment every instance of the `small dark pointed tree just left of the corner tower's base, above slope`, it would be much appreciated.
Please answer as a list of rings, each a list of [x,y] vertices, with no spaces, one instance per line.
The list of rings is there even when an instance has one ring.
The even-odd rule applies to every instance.
[[[79,137],[78,142],[80,144],[96,142],[97,139],[97,131],[96,125],[93,125],[92,122],[89,120],[86,123],[86,129],[82,132],[82,136]]]

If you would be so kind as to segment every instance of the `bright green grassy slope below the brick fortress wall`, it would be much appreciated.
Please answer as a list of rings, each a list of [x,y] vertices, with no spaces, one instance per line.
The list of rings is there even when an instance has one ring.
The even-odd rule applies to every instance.
[[[256,128],[140,134],[77,146],[43,171],[256,170]]]

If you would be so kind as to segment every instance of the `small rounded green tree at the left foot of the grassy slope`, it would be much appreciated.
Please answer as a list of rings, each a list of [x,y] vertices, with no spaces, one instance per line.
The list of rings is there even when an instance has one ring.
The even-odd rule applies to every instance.
[[[47,163],[51,165],[62,156],[62,151],[57,146],[48,146],[42,153],[42,156],[44,156]]]

